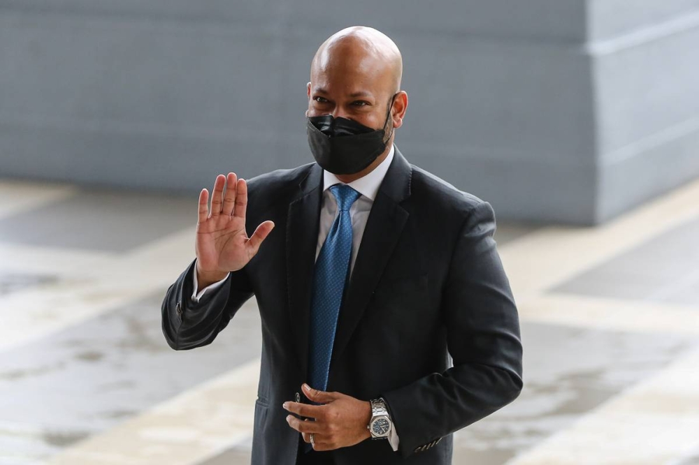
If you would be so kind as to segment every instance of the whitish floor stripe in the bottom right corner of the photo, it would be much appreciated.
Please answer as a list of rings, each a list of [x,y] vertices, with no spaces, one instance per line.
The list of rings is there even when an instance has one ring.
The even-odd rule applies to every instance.
[[[699,350],[507,465],[661,465],[699,447]]]

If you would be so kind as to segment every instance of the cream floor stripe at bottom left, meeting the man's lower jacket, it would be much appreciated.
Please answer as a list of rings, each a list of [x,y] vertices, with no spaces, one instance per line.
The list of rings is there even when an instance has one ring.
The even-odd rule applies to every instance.
[[[259,360],[254,360],[82,441],[46,464],[203,462],[250,436],[258,379]]]

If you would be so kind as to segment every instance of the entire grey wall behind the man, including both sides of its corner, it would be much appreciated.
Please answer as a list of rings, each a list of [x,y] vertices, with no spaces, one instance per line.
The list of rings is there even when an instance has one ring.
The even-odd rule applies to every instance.
[[[403,52],[402,152],[499,219],[699,175],[699,0],[0,1],[0,175],[196,195],[312,161],[310,58],[352,24]]]

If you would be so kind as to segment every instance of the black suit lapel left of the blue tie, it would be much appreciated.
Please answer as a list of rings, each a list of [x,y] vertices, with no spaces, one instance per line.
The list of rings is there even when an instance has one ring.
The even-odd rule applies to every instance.
[[[322,168],[313,165],[309,175],[299,185],[301,197],[291,202],[287,214],[289,317],[304,379],[308,373],[311,286],[323,194],[322,175]]]

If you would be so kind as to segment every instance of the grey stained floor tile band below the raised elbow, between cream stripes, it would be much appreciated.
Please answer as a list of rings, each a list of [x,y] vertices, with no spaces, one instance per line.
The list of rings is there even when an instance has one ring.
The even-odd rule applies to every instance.
[[[252,302],[215,344],[172,350],[164,291],[0,353],[0,463],[10,453],[48,456],[259,357]]]

